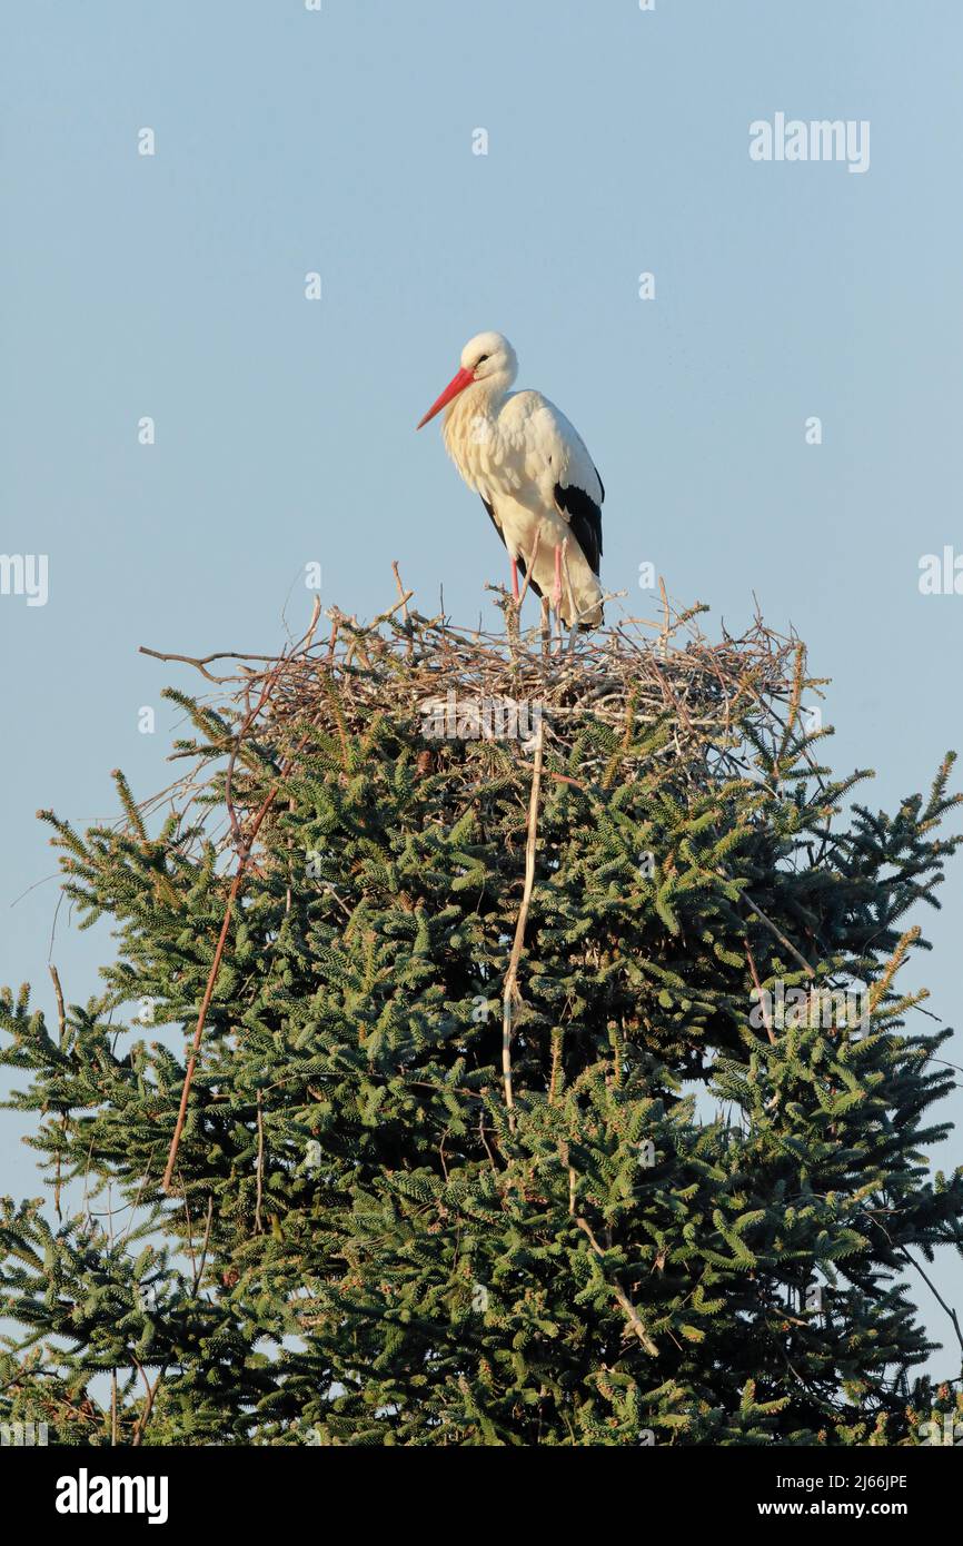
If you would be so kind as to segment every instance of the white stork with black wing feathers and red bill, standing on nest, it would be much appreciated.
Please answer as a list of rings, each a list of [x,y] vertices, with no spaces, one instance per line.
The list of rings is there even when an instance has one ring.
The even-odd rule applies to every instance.
[[[515,600],[519,567],[522,575],[532,570],[535,595],[549,595],[569,628],[598,628],[601,478],[577,430],[547,397],[509,390],[516,374],[509,340],[479,332],[417,428],[447,408],[445,447],[509,550]]]

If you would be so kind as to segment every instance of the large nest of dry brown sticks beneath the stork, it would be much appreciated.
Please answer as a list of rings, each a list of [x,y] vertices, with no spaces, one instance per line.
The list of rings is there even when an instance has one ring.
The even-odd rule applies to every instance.
[[[652,727],[646,761],[669,759],[686,784],[705,785],[713,776],[751,776],[747,722],[756,748],[759,741],[773,748],[785,744],[802,693],[818,693],[822,680],[805,676],[796,637],[779,635],[756,617],[742,635],[722,629],[711,642],[699,626],[708,608],[677,608],[665,589],[662,617],[628,617],[567,642],[552,638],[544,625],[521,632],[516,608],[501,589],[501,632],[458,628],[444,614],[425,617],[410,606],[411,592],[400,583],[399,592],[399,601],[371,623],[331,609],[328,637],[318,637],[315,601],[308,632],[277,657],[224,651],[196,659],[145,649],[192,665],[216,691],[198,700],[206,705],[204,741],[181,741],[175,750],[201,761],[139,810],[170,802],[184,815],[226,805],[229,826],[219,841],[246,847],[257,790],[266,788],[252,773],[277,776],[283,787],[312,741],[363,739],[385,719],[434,770],[445,761],[484,765],[493,742],[513,750],[519,770],[530,768],[533,727],[541,722],[555,768],[569,762],[583,737],[572,771],[589,782],[604,778],[606,762],[584,741],[590,720],[621,728],[626,744]],[[165,696],[189,707],[173,690]],[[227,758],[227,765],[221,761],[212,770],[216,758]],[[618,781],[629,778],[632,761],[620,759]]]

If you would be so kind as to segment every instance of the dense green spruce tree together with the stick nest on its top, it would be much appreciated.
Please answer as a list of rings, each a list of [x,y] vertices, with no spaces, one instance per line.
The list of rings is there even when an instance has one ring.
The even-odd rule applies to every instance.
[[[335,614],[202,671],[173,792],[42,813],[117,943],[83,1006],[3,999],[45,1197],[3,1203],[0,1419],[838,1446],[957,1411],[920,1376],[963,1172],[909,917],[952,756],[853,802],[801,645],[694,614],[558,654]]]

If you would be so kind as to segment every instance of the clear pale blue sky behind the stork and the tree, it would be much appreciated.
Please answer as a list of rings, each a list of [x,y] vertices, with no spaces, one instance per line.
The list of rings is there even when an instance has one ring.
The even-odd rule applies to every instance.
[[[53,1016],[34,812],[111,815],[116,765],[139,798],[170,778],[159,691],[196,680],[139,645],[272,651],[286,598],[308,620],[309,561],[326,606],[374,615],[397,558],[424,611],[444,584],[458,621],[495,621],[502,549],[437,427],[414,433],[485,328],[586,439],[603,578],[632,611],[651,561],[709,631],[753,595],[795,625],[833,677],[833,765],[875,767],[875,805],[963,748],[963,595],[918,591],[921,555],[963,553],[958,0],[0,15],[0,550],[49,560],[46,606],[0,595],[0,982]],[[869,170],[753,162],[748,125],[776,111],[867,119]],[[949,1023],[961,897],[963,861],[903,977]],[[60,909],[71,1002],[108,952]],[[0,1189],[32,1195],[23,1130],[0,1116]],[[935,1279],[963,1311],[960,1263]],[[952,1373],[946,1317],[914,1294]]]

